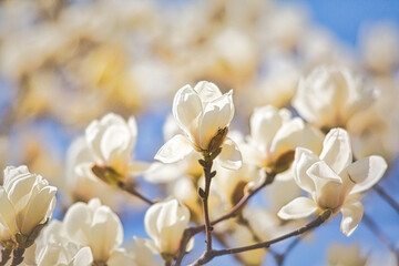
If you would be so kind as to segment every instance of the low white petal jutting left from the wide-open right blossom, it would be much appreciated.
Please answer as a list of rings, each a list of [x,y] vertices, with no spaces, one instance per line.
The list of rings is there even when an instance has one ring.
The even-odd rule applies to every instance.
[[[317,205],[308,197],[297,197],[277,213],[283,219],[305,218],[317,211]]]

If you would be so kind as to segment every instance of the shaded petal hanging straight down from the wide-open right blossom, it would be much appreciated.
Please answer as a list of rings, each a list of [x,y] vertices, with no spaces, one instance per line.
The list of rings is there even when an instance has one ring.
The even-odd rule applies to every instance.
[[[341,213],[342,221],[340,224],[340,231],[344,235],[350,236],[358,227],[362,218],[364,207],[360,202],[350,201],[342,206]]]

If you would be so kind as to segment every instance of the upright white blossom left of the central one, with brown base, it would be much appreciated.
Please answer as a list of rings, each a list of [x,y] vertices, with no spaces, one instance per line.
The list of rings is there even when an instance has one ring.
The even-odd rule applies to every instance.
[[[132,162],[131,158],[136,135],[137,126],[133,116],[127,123],[113,113],[106,114],[100,121],[94,120],[85,130],[85,140],[96,166],[100,166],[95,175],[110,182],[108,177],[103,177],[106,175],[103,170],[122,180],[126,178],[129,173],[141,174],[146,164]]]

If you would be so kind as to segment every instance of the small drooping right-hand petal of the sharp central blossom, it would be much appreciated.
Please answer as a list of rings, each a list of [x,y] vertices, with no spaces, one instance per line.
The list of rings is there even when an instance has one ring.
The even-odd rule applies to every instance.
[[[222,145],[222,152],[216,157],[218,163],[229,170],[238,170],[243,165],[242,154],[237,144],[229,137]]]

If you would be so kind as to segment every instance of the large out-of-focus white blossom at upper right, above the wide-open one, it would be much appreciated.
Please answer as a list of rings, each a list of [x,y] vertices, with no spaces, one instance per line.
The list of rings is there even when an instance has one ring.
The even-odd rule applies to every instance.
[[[299,81],[293,105],[307,122],[331,129],[369,108],[376,92],[347,68],[319,66]]]

